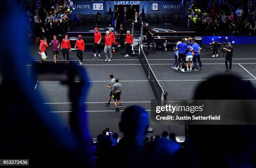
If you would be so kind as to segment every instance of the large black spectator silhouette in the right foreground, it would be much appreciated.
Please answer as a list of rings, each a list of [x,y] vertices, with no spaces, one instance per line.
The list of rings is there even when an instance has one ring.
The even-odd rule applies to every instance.
[[[216,87],[216,83],[222,85]],[[255,100],[256,89],[250,81],[241,80],[236,75],[216,75],[197,86],[194,99]],[[218,165],[222,167],[254,165],[255,167],[253,158],[256,157],[256,153],[251,153],[256,151],[256,135],[252,133],[255,129],[256,125],[189,125],[187,135],[189,153],[196,158],[195,165],[198,168],[213,168]],[[218,133],[218,136],[215,133]],[[223,142],[224,139],[227,143]]]

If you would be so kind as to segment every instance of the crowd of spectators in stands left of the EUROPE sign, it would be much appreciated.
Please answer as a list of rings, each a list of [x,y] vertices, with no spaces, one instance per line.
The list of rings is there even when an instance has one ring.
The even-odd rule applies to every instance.
[[[69,0],[40,1],[22,0],[20,5],[27,11],[28,35],[64,35],[69,29]]]

